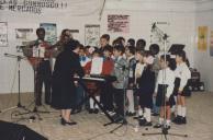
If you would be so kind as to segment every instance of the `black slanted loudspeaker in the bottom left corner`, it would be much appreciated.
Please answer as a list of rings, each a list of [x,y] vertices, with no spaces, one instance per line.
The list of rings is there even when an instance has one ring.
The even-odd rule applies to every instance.
[[[24,125],[0,120],[1,140],[48,140]]]

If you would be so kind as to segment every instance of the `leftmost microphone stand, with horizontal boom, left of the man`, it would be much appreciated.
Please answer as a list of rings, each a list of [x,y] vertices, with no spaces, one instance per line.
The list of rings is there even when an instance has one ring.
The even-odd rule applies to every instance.
[[[23,56],[16,56],[16,55],[12,55],[12,54],[4,54],[5,57],[10,57],[10,58],[16,58],[16,65],[18,65],[18,104],[16,106],[12,106],[12,107],[9,107],[7,109],[3,109],[3,110],[0,110],[0,113],[4,113],[4,112],[8,112],[10,109],[15,109],[15,108],[22,108],[24,110],[27,110],[25,108],[25,106],[23,106],[21,104],[21,92],[20,92],[20,62],[21,62],[21,59],[26,59],[25,57]]]

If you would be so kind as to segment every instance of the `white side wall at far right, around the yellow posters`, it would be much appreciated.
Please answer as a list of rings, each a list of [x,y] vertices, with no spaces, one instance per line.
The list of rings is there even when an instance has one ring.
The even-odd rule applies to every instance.
[[[213,2],[205,2],[197,7],[195,30],[198,36],[198,26],[208,26],[208,50],[198,50],[195,42],[194,66],[201,72],[201,79],[204,81],[209,91],[213,91],[213,57],[210,56],[210,31],[213,31]]]

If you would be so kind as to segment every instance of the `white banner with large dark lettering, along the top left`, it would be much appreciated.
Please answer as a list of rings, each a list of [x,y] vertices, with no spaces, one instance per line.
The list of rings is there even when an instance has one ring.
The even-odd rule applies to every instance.
[[[93,15],[102,0],[0,0],[0,12],[47,15]]]

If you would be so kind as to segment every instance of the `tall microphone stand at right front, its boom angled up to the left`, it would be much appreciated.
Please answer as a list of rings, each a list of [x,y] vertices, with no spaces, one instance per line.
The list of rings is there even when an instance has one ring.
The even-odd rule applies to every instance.
[[[166,61],[167,38],[169,36],[167,34],[165,34],[160,28],[158,28],[156,26],[156,23],[153,24],[152,32],[156,32],[156,34],[159,36],[159,38],[162,39],[162,42],[164,42],[164,59]],[[165,80],[166,80],[166,70],[162,71],[162,84],[165,84]],[[165,92],[166,92],[166,86],[164,86],[164,89],[162,89],[162,94],[166,94]],[[164,122],[165,122],[165,120],[166,120],[166,97],[164,97]],[[153,136],[153,135],[164,135],[166,140],[167,140],[167,136],[188,137],[188,135],[168,132],[168,128],[166,128],[166,124],[162,125],[161,132],[142,133],[142,136]]]

